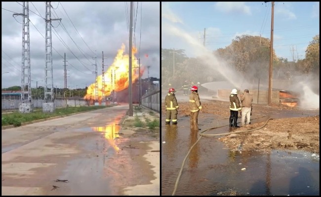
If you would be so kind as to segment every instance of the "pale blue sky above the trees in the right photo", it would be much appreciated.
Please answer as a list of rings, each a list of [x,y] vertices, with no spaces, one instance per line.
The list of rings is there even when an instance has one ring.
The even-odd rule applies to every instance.
[[[237,35],[271,38],[272,3],[161,2],[161,48],[185,49],[196,57],[193,41],[209,50],[225,48]],[[312,38],[320,34],[320,2],[275,2],[273,47],[288,61],[304,59]],[[182,36],[182,34],[188,34]],[[195,39],[191,41],[191,39]]]

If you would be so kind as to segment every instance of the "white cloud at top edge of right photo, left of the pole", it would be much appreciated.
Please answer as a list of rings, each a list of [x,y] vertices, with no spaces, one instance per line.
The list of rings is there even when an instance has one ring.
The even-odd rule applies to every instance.
[[[245,5],[245,2],[217,2],[214,7],[225,13],[252,15],[250,7]]]

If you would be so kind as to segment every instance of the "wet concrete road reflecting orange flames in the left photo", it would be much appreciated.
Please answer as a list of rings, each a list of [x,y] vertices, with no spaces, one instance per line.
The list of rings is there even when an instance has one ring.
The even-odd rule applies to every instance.
[[[120,136],[127,110],[122,104],[2,130],[1,195],[139,195],[137,185],[159,175],[151,164],[160,159],[146,156],[155,143],[137,146],[134,156],[123,148],[132,134]],[[139,181],[137,169],[145,172]]]

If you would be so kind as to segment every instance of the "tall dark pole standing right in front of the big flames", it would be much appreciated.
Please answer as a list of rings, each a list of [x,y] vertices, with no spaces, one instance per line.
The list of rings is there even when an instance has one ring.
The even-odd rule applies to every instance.
[[[132,36],[133,36],[133,1],[130,1],[130,23],[129,23],[129,88],[128,88],[128,96],[129,96],[129,112],[128,116],[133,116],[133,102],[132,102],[132,81],[131,81],[131,72],[132,72]]]

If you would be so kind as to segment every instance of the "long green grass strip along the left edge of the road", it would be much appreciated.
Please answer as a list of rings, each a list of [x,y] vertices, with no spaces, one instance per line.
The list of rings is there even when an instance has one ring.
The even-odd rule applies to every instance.
[[[1,126],[13,125],[15,127],[21,126],[22,123],[29,121],[41,120],[45,118],[51,118],[55,116],[63,116],[73,114],[82,111],[89,111],[94,109],[102,109],[109,106],[80,106],[80,107],[67,107],[67,108],[56,108],[52,113],[44,113],[42,110],[33,111],[31,113],[19,113],[12,112],[1,114]]]

